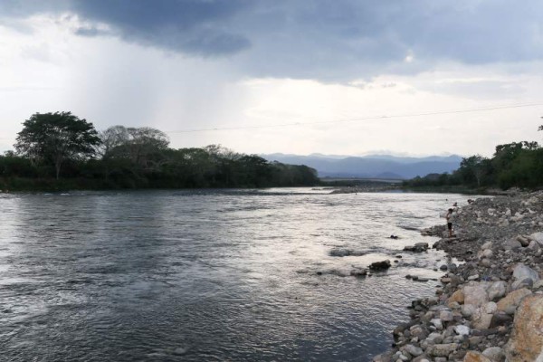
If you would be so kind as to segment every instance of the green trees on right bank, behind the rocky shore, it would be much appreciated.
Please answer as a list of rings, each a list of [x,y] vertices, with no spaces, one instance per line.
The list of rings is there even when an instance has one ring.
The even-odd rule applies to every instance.
[[[543,130],[540,126],[538,130]],[[472,189],[543,186],[543,148],[538,142],[521,141],[496,146],[491,158],[462,158],[452,174],[429,174],[404,181],[406,187],[463,186]]]

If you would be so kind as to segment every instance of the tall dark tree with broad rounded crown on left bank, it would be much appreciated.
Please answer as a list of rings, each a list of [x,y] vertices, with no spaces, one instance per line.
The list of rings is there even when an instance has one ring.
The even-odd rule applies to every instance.
[[[92,123],[71,112],[34,113],[23,126],[14,145],[17,153],[33,164],[52,162],[57,179],[63,162],[92,157],[100,144]]]

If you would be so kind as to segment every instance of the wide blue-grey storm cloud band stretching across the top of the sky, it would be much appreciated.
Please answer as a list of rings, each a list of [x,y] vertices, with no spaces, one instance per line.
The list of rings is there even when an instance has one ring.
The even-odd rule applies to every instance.
[[[53,4],[54,6],[52,6]],[[231,56],[252,75],[338,79],[435,62],[543,59],[540,0],[5,0],[0,13],[71,11],[130,42]],[[414,62],[405,62],[408,54]]]

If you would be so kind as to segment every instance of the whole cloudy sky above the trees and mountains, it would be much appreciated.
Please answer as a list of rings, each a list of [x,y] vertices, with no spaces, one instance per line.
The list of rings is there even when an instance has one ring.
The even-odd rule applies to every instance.
[[[0,151],[33,113],[173,148],[429,156],[543,143],[540,0],[0,0]]]

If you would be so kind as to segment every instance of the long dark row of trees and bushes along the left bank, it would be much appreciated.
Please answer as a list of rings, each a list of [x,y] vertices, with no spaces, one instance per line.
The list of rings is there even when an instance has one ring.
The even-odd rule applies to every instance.
[[[71,112],[35,113],[0,156],[4,189],[313,186],[317,171],[217,145],[169,148],[166,133],[97,131]],[[1,185],[1,184],[0,184]]]

